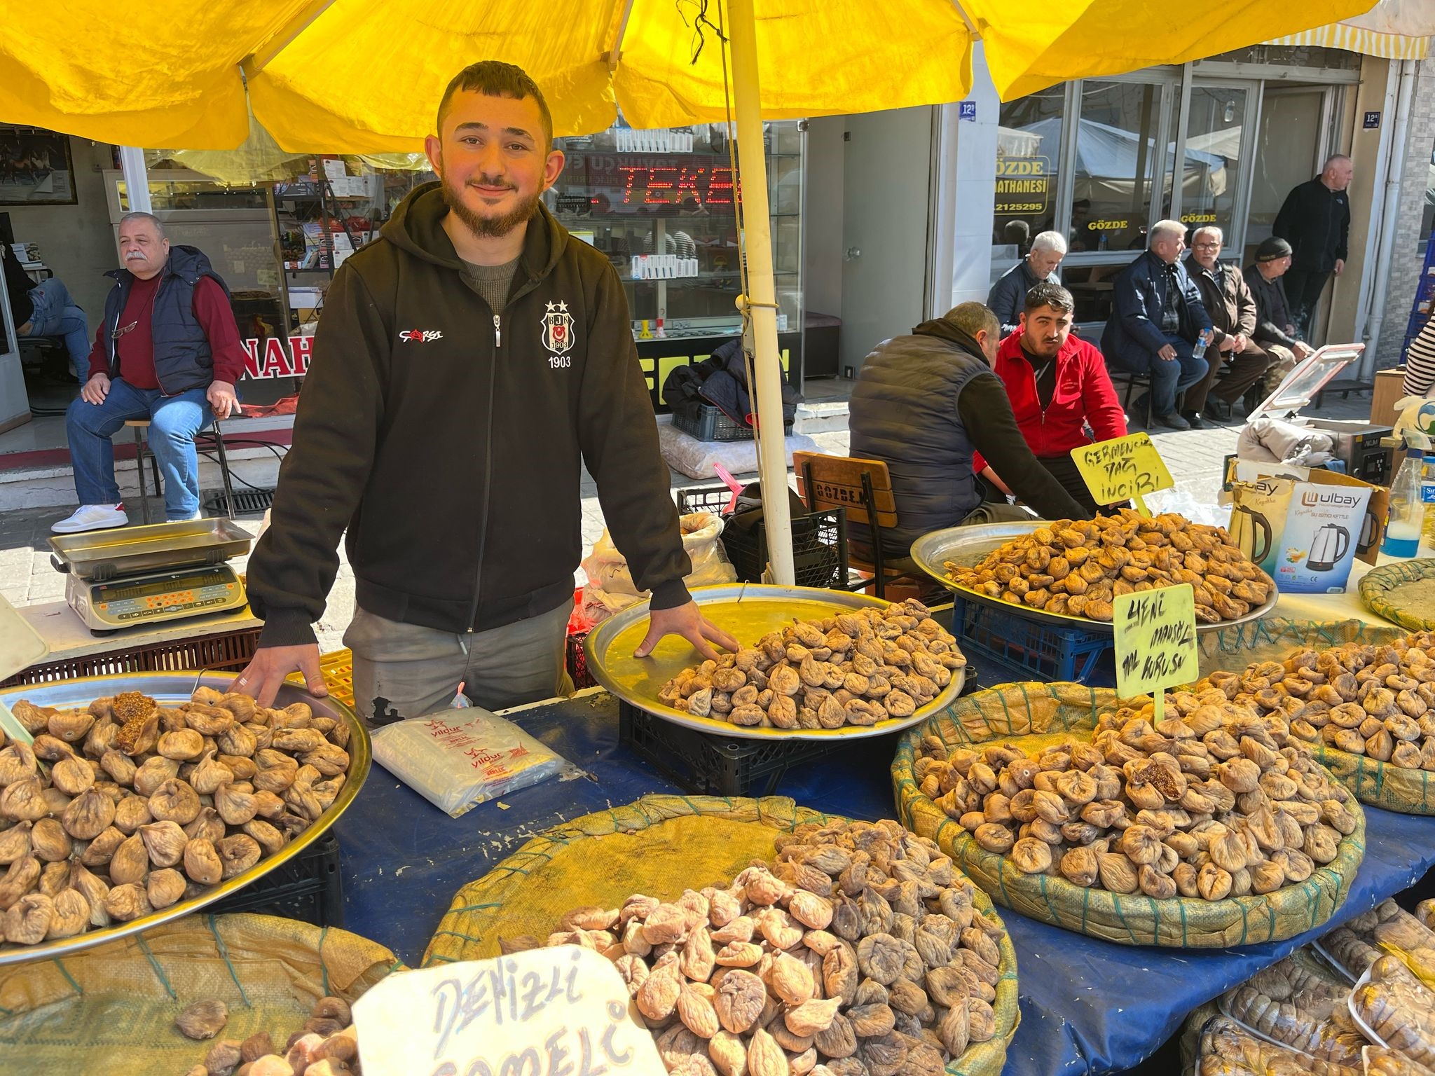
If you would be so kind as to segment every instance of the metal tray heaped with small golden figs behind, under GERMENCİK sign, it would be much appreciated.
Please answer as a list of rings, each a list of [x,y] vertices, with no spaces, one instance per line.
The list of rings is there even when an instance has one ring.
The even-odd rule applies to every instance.
[[[1258,615],[1276,600],[1270,575],[1241,552],[1225,528],[1194,524],[1175,512],[1144,516],[1122,508],[1095,519],[1038,522],[1030,534],[1003,542],[976,562],[943,555],[944,548],[957,548],[944,537],[961,539],[963,529],[970,528],[926,535],[914,544],[913,555],[928,571],[940,562],[937,578],[943,582],[1023,613],[1109,624],[1111,600],[1118,594],[1188,582],[1201,627]]]

